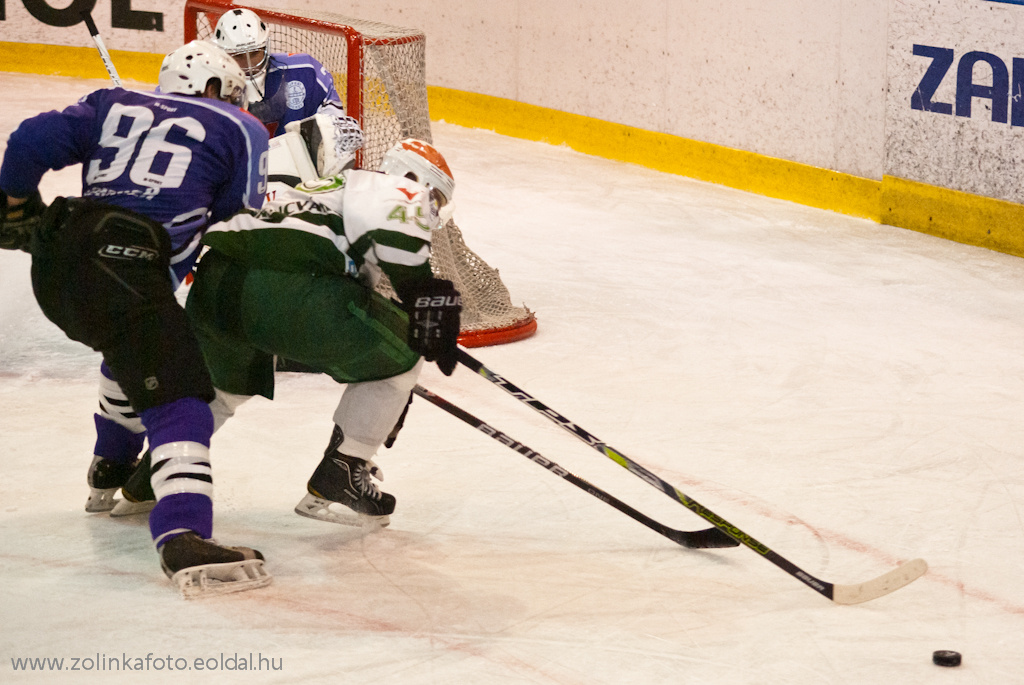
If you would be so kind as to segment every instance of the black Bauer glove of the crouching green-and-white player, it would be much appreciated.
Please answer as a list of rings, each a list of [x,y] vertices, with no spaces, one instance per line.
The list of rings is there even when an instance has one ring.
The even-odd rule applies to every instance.
[[[459,359],[459,291],[451,281],[428,279],[403,284],[397,293],[409,312],[410,349],[451,376]]]

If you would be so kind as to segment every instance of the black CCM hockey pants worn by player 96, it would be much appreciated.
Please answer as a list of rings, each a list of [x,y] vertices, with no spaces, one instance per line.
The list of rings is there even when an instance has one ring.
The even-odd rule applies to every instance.
[[[136,412],[213,385],[169,271],[170,237],[152,219],[57,198],[32,246],[32,287],[69,338],[103,354]]]

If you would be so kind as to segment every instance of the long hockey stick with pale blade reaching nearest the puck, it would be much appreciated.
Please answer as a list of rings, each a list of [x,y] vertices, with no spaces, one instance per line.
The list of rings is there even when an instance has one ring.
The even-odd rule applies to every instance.
[[[758,542],[750,534],[743,532],[732,523],[729,523],[712,510],[699,504],[696,500],[687,497],[674,485],[671,485],[665,480],[658,478],[656,475],[640,466],[623,453],[609,446],[608,444],[605,444],[596,436],[575,425],[541,400],[537,399],[521,388],[516,387],[501,375],[487,369],[461,347],[459,348],[459,361],[466,368],[471,369],[476,374],[499,386],[519,401],[542,414],[548,420],[572,433],[611,461],[639,477],[641,480],[646,481],[648,485],[660,489],[663,493],[682,504],[697,516],[700,516],[701,518],[713,523],[715,527],[722,532],[725,532],[733,540],[742,543],[768,561],[784,570],[790,575],[793,575],[807,587],[827,597],[837,604],[860,604],[861,602],[866,602],[884,595],[888,595],[891,592],[899,590],[903,586],[913,583],[928,570],[928,564],[924,559],[913,559],[892,569],[891,571],[883,573],[876,579],[871,579],[870,581],[866,581],[864,583],[858,583],[856,585],[836,585],[814,577],[800,566],[771,550],[767,545]]]

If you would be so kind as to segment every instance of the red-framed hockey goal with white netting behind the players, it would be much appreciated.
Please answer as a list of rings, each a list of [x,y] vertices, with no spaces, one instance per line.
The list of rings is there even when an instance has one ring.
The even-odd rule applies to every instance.
[[[356,164],[377,169],[384,153],[402,138],[432,142],[427,108],[426,36],[421,31],[326,11],[278,10],[216,0],[186,0],[184,39],[212,40],[221,14],[236,7],[260,15],[272,52],[312,55],[334,78],[349,116],[362,126],[366,142]],[[462,293],[462,331],[467,347],[522,340],[537,331],[525,306],[512,304],[498,270],[466,246],[450,219],[431,237],[430,264]],[[390,295],[390,285],[382,285]]]

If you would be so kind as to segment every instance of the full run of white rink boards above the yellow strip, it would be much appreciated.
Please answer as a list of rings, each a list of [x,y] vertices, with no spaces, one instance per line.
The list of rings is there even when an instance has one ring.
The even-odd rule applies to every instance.
[[[46,6],[45,0],[31,0]],[[50,8],[51,24],[79,6]],[[881,180],[883,175],[1024,201],[1024,119],[922,112],[910,97],[931,60],[913,45],[952,50],[936,102],[954,103],[969,52],[1024,83],[1024,6],[988,0],[260,0],[330,9],[427,34],[430,85],[569,112],[769,158]],[[163,53],[180,43],[182,0],[133,0],[93,14],[109,48]],[[91,45],[81,24],[49,26],[7,2],[5,41]],[[162,31],[114,28],[159,15]],[[120,18],[115,18],[117,14]],[[151,27],[153,28],[153,27]],[[1024,63],[1024,62],[1022,62]],[[984,65],[975,81],[991,76]],[[989,70],[990,71],[990,70]],[[1015,83],[1017,85],[1015,85]],[[887,95],[888,92],[888,95]],[[1005,93],[1024,110],[1024,93]],[[989,100],[990,102],[990,100]],[[1011,105],[1012,109],[1012,105]],[[1024,117],[1024,113],[1022,113]]]

